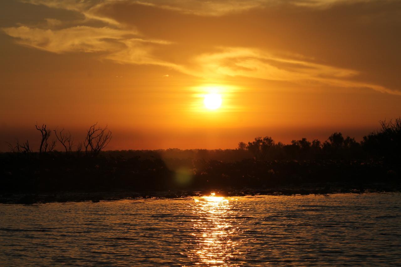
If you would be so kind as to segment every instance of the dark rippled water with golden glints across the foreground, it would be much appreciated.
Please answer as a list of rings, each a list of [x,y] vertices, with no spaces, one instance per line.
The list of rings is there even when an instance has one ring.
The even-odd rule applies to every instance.
[[[401,194],[0,205],[1,265],[401,265]]]

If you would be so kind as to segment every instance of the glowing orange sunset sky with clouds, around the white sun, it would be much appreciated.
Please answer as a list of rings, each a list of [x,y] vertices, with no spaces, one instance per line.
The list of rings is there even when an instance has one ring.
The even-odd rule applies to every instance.
[[[400,32],[391,0],[1,1],[0,151],[36,121],[107,149],[360,139],[401,115]]]

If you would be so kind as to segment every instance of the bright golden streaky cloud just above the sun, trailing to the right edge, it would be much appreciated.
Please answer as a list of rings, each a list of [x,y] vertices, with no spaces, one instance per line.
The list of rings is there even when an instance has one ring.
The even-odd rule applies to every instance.
[[[198,77],[219,79],[222,76],[241,76],[272,81],[292,81],[299,84],[326,84],[336,87],[370,88],[382,93],[401,95],[401,92],[380,85],[352,81],[358,71],[290,59],[241,47],[221,47],[219,52],[197,56],[194,66],[185,72]]]

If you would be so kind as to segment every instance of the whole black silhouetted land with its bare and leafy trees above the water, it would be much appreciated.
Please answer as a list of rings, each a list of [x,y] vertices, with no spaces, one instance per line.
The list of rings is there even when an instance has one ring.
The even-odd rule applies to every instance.
[[[400,118],[381,121],[381,129],[361,142],[337,132],[324,142],[302,138],[291,144],[275,143],[266,136],[247,144],[240,142],[237,149],[231,150],[104,152],[111,131],[94,124],[75,152],[71,134],[63,133],[64,129],[54,130],[65,150],[58,152],[49,141],[51,131],[47,126],[36,128],[41,132],[38,152],[32,152],[28,141],[20,144],[16,140],[14,145],[9,144],[10,152],[0,154],[3,196],[18,192],[213,188],[270,192],[269,188],[277,186],[298,188],[292,192],[315,193],[348,192],[352,188],[358,192],[367,188],[400,190]],[[307,186],[312,189],[302,191]]]

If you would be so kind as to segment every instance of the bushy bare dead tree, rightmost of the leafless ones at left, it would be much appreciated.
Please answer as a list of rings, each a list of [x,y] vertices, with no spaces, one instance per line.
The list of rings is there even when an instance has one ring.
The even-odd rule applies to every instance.
[[[92,156],[96,156],[99,152],[109,144],[111,140],[111,131],[97,126],[97,123],[89,127],[83,146],[85,147],[85,154],[89,151]]]

